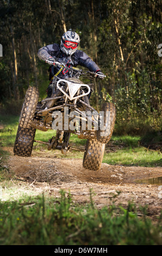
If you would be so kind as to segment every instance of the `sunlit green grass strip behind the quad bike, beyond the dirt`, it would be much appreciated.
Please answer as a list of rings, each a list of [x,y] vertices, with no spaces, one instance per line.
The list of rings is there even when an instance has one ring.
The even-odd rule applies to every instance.
[[[4,117],[0,115],[0,124],[3,124],[4,128],[0,130],[0,147],[13,147],[15,142],[15,136],[18,126],[18,117],[8,115]],[[48,130],[42,132],[36,130],[35,139],[48,142],[49,138],[55,135],[55,131]],[[148,139],[148,137],[147,137]],[[140,136],[112,136],[110,143],[107,144],[103,162],[108,164],[121,164],[124,166],[145,166],[145,167],[161,167],[162,159],[160,151],[148,150],[141,146],[139,141]],[[86,139],[78,139],[76,135],[71,135],[70,144],[75,147],[83,147],[86,144]],[[109,147],[113,147],[115,151],[109,151]],[[34,143],[33,150],[35,152],[48,151],[46,145]],[[71,151],[66,156],[61,154],[59,150],[48,151],[49,155],[57,157],[67,158],[79,158],[83,159],[83,152]]]

